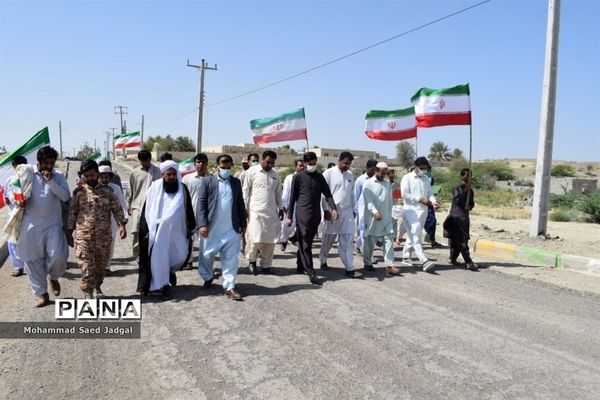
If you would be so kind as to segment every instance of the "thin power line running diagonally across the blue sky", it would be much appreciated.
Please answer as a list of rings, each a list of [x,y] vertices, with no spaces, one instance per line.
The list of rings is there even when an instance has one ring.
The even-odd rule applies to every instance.
[[[442,22],[442,21],[444,21],[444,20],[447,20],[447,19],[449,19],[449,18],[452,18],[452,17],[454,17],[454,16],[456,16],[456,15],[462,14],[462,13],[464,13],[464,12],[467,12],[467,11],[469,11],[469,10],[472,10],[472,9],[474,9],[474,8],[476,8],[476,7],[482,6],[482,5],[484,5],[484,4],[486,4],[486,3],[489,3],[489,2],[491,2],[491,1],[492,1],[492,0],[483,0],[483,1],[480,1],[479,3],[473,4],[473,5],[469,6],[469,7],[465,7],[465,8],[463,8],[463,9],[460,9],[460,10],[458,10],[458,11],[455,11],[455,12],[453,12],[453,13],[451,13],[451,14],[447,14],[447,15],[445,15],[445,16],[443,16],[443,17],[440,17],[440,18],[434,19],[433,21],[429,21],[429,22],[427,22],[427,23],[424,23],[424,24],[422,24],[422,25],[416,26],[416,27],[414,27],[414,28],[411,28],[411,29],[409,29],[409,30],[407,30],[407,31],[404,31],[404,32],[402,32],[402,33],[399,33],[399,34],[397,34],[397,35],[394,35],[394,36],[391,36],[391,37],[389,37],[389,38],[387,38],[387,39],[380,40],[379,42],[376,42],[376,43],[370,44],[370,45],[368,45],[368,46],[366,46],[366,47],[363,47],[363,48],[360,48],[360,49],[358,49],[358,50],[355,50],[355,51],[353,51],[353,52],[350,52],[350,53],[348,53],[348,54],[345,54],[345,55],[343,55],[343,56],[341,56],[341,57],[338,57],[338,58],[335,58],[335,59],[333,59],[333,60],[330,60],[330,61],[324,62],[324,63],[322,63],[322,64],[319,64],[319,65],[316,65],[316,66],[314,66],[314,67],[308,68],[308,69],[306,69],[306,70],[304,70],[304,71],[301,71],[301,72],[298,72],[298,73],[296,73],[296,74],[294,74],[294,75],[290,75],[290,76],[288,76],[287,78],[279,79],[279,80],[277,80],[277,81],[274,81],[274,82],[268,83],[268,84],[266,84],[266,85],[260,86],[260,87],[258,87],[258,88],[256,88],[256,89],[252,89],[252,90],[249,90],[249,91],[247,91],[247,92],[243,92],[243,93],[240,93],[240,94],[238,94],[238,95],[231,96],[231,97],[227,97],[227,98],[225,98],[225,99],[223,99],[223,100],[219,100],[219,101],[216,101],[216,102],[214,102],[214,103],[207,104],[207,105],[206,105],[206,107],[216,106],[216,105],[218,105],[218,104],[223,104],[223,103],[226,103],[226,102],[229,102],[229,101],[235,100],[235,99],[239,99],[240,97],[248,96],[248,95],[250,95],[250,94],[253,94],[253,93],[259,92],[259,91],[261,91],[261,90],[265,90],[265,89],[268,89],[268,88],[270,88],[270,87],[273,87],[273,86],[275,86],[275,85],[279,85],[280,83],[287,82],[287,81],[289,81],[289,80],[292,80],[292,79],[298,78],[299,76],[306,75],[306,74],[308,74],[308,73],[310,73],[310,72],[313,72],[313,71],[316,71],[316,70],[318,70],[318,69],[321,69],[321,68],[327,67],[327,66],[329,66],[329,65],[331,65],[331,64],[335,64],[335,63],[337,63],[337,62],[339,62],[339,61],[345,60],[346,58],[349,58],[349,57],[355,56],[355,55],[357,55],[357,54],[360,54],[360,53],[363,53],[363,52],[365,52],[365,51],[367,51],[367,50],[370,50],[370,49],[372,49],[372,48],[374,48],[374,47],[381,46],[382,44],[385,44],[385,43],[387,43],[387,42],[391,42],[392,40],[398,39],[398,38],[400,38],[400,37],[402,37],[402,36],[406,36],[406,35],[408,35],[408,34],[410,34],[410,33],[416,32],[416,31],[418,31],[418,30],[421,30],[421,29],[423,29],[423,28],[426,28],[426,27],[428,27],[428,26],[431,26],[431,25],[437,24],[437,23],[439,23],[439,22]],[[159,124],[159,125],[155,125],[155,126],[153,126],[152,128],[158,128],[158,127],[161,127],[161,126],[164,126],[164,125],[168,125],[168,124],[170,124],[170,123],[172,123],[172,122],[175,122],[175,121],[177,121],[177,120],[179,120],[179,119],[181,119],[181,118],[183,118],[183,117],[185,117],[185,116],[187,116],[187,115],[189,115],[189,114],[191,114],[191,113],[193,113],[193,112],[196,112],[196,111],[198,111],[198,107],[195,107],[194,109],[192,109],[192,110],[189,110],[189,111],[185,112],[184,114],[181,114],[180,116],[178,116],[178,117],[175,117],[175,118],[173,118],[173,119],[171,119],[171,120],[169,120],[169,121],[167,121],[167,122],[164,122],[164,123],[162,123],[162,124]]]

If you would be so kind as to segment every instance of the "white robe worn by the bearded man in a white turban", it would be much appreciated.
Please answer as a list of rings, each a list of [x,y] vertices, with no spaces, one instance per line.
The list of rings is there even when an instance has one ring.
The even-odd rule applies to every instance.
[[[172,269],[180,267],[187,258],[187,237],[184,188],[177,193],[163,189],[163,180],[154,181],[146,194],[145,217],[148,223],[148,252],[152,270],[150,290],[169,284]]]

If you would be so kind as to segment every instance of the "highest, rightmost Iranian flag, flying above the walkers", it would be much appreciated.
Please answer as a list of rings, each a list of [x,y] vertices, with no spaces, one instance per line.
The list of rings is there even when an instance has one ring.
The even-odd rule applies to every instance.
[[[448,89],[421,88],[411,98],[417,126],[471,125],[469,84]]]

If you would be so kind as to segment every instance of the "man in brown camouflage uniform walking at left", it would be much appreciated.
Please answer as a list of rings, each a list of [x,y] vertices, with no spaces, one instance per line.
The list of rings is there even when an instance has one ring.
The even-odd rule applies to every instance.
[[[124,239],[125,216],[119,199],[112,189],[98,184],[98,164],[93,160],[81,164],[85,180],[71,200],[67,241],[76,245],[76,255],[81,265],[81,290],[85,298],[103,297],[100,286],[104,280],[104,268],[110,256],[112,240],[111,218],[119,224],[119,236]],[[112,215],[111,215],[112,214]],[[76,237],[73,239],[73,231]]]

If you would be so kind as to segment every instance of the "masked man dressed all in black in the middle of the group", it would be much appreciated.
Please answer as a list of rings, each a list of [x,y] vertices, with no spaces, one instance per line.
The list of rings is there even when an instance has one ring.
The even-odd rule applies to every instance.
[[[333,201],[331,190],[317,172],[317,155],[309,151],[304,153],[304,171],[294,175],[288,206],[288,226],[296,215],[296,234],[298,235],[298,253],[296,271],[306,273],[314,285],[322,285],[313,268],[312,243],[321,222],[321,196],[330,208],[331,219],[337,220],[337,207]]]

